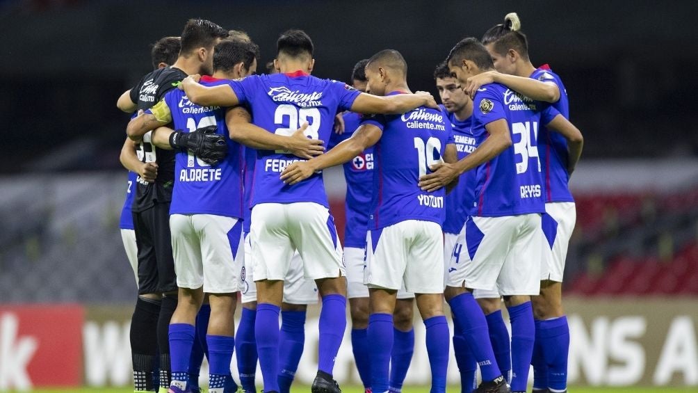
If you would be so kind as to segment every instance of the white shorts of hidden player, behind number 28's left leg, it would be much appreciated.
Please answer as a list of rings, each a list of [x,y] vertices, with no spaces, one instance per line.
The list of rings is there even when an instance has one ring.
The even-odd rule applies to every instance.
[[[245,239],[245,267],[242,275],[242,303],[257,302],[257,286],[255,286],[252,274],[252,247],[249,234],[244,234]],[[288,276],[283,281],[283,302],[290,304],[316,304],[318,303],[318,287],[315,281],[303,276],[303,260],[299,253],[293,254]]]

